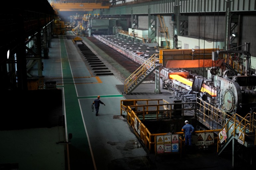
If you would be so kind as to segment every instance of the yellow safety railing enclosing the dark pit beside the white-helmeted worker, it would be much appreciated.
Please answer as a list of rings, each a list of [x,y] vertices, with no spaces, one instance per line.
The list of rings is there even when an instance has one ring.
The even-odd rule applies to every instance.
[[[198,98],[197,98],[198,100]],[[145,124],[143,124],[143,122],[145,122],[145,120],[160,120],[160,119],[171,119],[172,118],[172,112],[175,110],[174,105],[175,104],[182,104],[182,108],[181,109],[176,109],[176,110],[182,110],[182,117],[184,118],[184,112],[186,111],[194,111],[195,116],[196,116],[196,111],[200,111],[200,113],[202,114],[203,117],[208,117],[208,119],[212,116],[215,117],[215,121],[219,120],[220,115],[219,113],[223,114],[222,112],[219,111],[212,111],[212,113],[208,112],[208,110],[217,110],[216,108],[212,108],[212,107],[208,107],[206,104],[200,104],[196,103],[196,102],[189,102],[189,103],[169,103],[164,99],[138,99],[138,100],[121,100],[121,115],[122,112],[126,112],[127,113],[127,122],[130,126],[132,126],[134,129],[134,125],[135,122],[137,121],[137,124],[140,124],[140,133],[137,133],[136,135],[139,136],[139,138],[141,139],[141,142],[143,142],[145,144],[145,146],[149,149],[149,151],[152,150],[153,148],[156,148],[156,141],[155,141],[155,136],[159,136],[159,135],[167,135],[167,133],[159,133],[159,134],[152,134],[149,129],[146,127]],[[184,108],[184,105],[187,104],[199,104],[199,106],[194,107],[194,108]],[[204,110],[204,111],[202,111]],[[212,114],[210,116],[210,114]],[[225,116],[225,115],[223,115]],[[239,117],[240,121],[238,121],[238,119],[236,117]],[[224,128],[226,128],[227,133],[228,131],[232,130],[231,134],[235,135],[235,132],[237,130],[242,131],[242,132],[253,132],[253,136],[255,137],[254,140],[254,145],[256,145],[255,141],[256,141],[256,113],[253,113],[253,116],[251,116],[250,113],[248,113],[244,118],[234,114],[232,116],[227,116],[226,118],[229,118],[229,120],[227,122],[225,122],[225,125],[223,125],[222,127],[218,128],[218,129],[214,129],[214,130],[205,130],[205,131],[195,131],[195,133],[209,133],[209,132],[220,132],[222,131]],[[229,121],[233,121],[234,123],[234,128],[231,129],[230,127],[227,127],[227,124],[229,123]],[[217,122],[217,121],[216,121]],[[138,128],[138,129],[139,129]],[[176,132],[174,134],[184,134],[183,132]],[[247,134],[246,134],[247,135]],[[247,135],[248,136],[248,135]],[[181,138],[180,138],[181,139]],[[216,140],[216,138],[214,138]],[[220,147],[220,140],[219,138],[217,138],[217,152],[218,152],[218,148]],[[181,139],[181,149],[182,149],[182,143],[184,142],[184,140]]]

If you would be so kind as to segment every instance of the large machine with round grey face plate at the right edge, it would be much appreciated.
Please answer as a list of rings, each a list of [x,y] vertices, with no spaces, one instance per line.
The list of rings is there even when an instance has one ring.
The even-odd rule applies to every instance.
[[[224,76],[217,77],[217,105],[224,112],[245,116],[255,111],[256,76],[250,70],[249,49],[250,43],[245,43],[245,50],[217,51],[218,54],[243,54],[241,58],[245,61],[245,67],[241,67],[243,75],[234,71],[235,75],[224,73]]]

